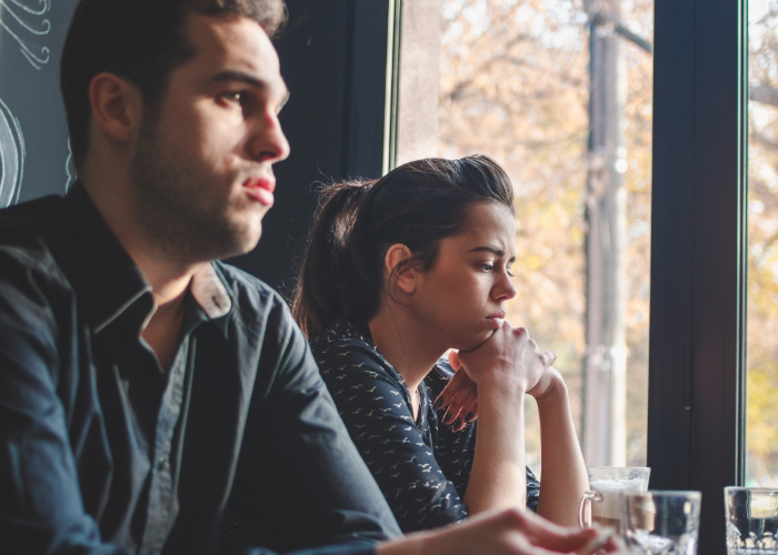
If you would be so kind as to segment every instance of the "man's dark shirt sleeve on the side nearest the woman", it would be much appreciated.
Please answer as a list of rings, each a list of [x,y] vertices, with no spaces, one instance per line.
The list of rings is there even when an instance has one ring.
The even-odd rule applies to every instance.
[[[399,527],[280,304],[267,323],[255,385],[262,398],[249,412],[227,543],[305,555],[372,553]]]

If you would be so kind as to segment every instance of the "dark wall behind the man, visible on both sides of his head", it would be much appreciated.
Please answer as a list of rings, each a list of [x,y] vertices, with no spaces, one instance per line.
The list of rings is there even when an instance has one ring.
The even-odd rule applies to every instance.
[[[132,0],[128,0],[132,1]],[[0,0],[0,206],[61,194],[74,179],[59,63],[77,0]],[[381,171],[388,0],[289,0],[276,41],[291,99],[291,155],[259,246],[233,263],[293,283],[316,183]]]

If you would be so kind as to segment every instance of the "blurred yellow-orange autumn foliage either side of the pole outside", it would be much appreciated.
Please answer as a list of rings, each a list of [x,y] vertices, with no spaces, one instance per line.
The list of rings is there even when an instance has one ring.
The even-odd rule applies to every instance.
[[[624,1],[650,38],[652,4]],[[496,158],[517,188],[517,297],[511,320],[559,354],[581,413],[586,336],[584,243],[589,135],[588,17],[568,0],[445,0],[439,154]],[[628,204],[627,463],[645,463],[650,239],[651,60],[625,46]],[[531,403],[531,402],[529,402]],[[530,423],[530,430],[532,430]],[[535,427],[537,431],[537,427]],[[538,435],[528,445],[539,456]]]

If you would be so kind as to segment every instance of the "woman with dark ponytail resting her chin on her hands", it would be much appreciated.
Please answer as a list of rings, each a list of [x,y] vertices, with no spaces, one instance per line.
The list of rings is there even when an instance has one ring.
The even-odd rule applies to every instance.
[[[406,533],[527,505],[577,524],[587,476],[556,355],[505,322],[512,203],[487,157],[322,193],[292,312]],[[525,394],[539,407],[542,488],[525,466]]]

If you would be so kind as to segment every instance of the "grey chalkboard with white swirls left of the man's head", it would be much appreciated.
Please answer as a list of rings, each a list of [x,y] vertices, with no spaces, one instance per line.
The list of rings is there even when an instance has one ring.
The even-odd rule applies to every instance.
[[[0,0],[0,206],[73,179],[59,61],[74,0]]]

